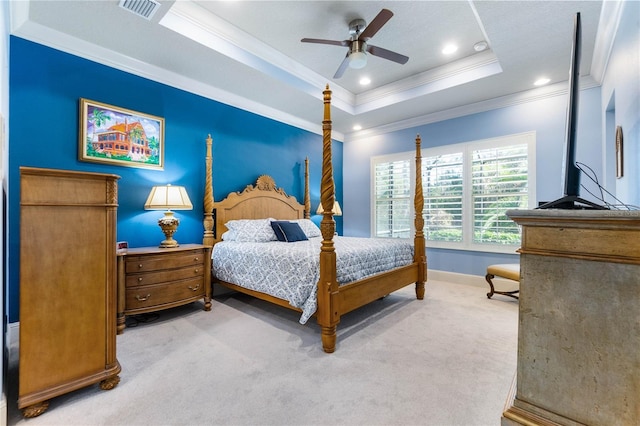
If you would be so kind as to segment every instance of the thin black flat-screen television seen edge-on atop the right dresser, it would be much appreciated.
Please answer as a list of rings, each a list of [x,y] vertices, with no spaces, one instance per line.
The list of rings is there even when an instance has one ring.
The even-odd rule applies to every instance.
[[[576,130],[578,125],[580,56],[582,53],[582,25],[580,12],[576,13],[573,31],[573,47],[569,64],[569,102],[567,105],[567,123],[565,133],[565,154],[563,162],[564,196],[555,201],[542,204],[539,209],[598,209],[606,207],[580,198],[580,173],[576,165]]]

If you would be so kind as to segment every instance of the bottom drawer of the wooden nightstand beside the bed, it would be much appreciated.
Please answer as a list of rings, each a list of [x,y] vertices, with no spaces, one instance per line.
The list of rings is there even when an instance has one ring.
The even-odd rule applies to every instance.
[[[200,298],[204,294],[205,288],[202,278],[182,280],[171,284],[128,288],[126,290],[127,310],[135,311],[149,306]]]

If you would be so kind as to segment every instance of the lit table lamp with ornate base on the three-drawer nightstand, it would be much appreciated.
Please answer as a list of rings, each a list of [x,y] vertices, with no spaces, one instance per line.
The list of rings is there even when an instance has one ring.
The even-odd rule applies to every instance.
[[[154,186],[151,188],[145,210],[165,210],[164,216],[158,219],[158,225],[164,232],[165,240],[160,243],[162,248],[178,247],[178,242],[173,239],[180,221],[173,215],[172,210],[191,210],[193,205],[187,195],[184,186],[172,186],[171,184]]]

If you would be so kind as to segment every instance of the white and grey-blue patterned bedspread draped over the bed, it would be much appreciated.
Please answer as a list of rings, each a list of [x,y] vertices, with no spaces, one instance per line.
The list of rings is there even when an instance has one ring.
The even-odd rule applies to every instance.
[[[287,300],[302,309],[304,324],[317,307],[322,238],[286,243],[222,241],[213,247],[213,275],[251,290]],[[388,271],[413,261],[412,240],[334,237],[339,284]]]

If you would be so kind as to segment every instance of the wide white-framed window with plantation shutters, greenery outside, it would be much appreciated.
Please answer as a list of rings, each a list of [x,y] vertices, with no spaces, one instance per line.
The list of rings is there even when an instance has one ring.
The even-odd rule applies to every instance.
[[[376,237],[413,235],[414,153],[372,160]],[[533,208],[535,133],[422,150],[425,238],[430,247],[513,252],[510,209]]]

